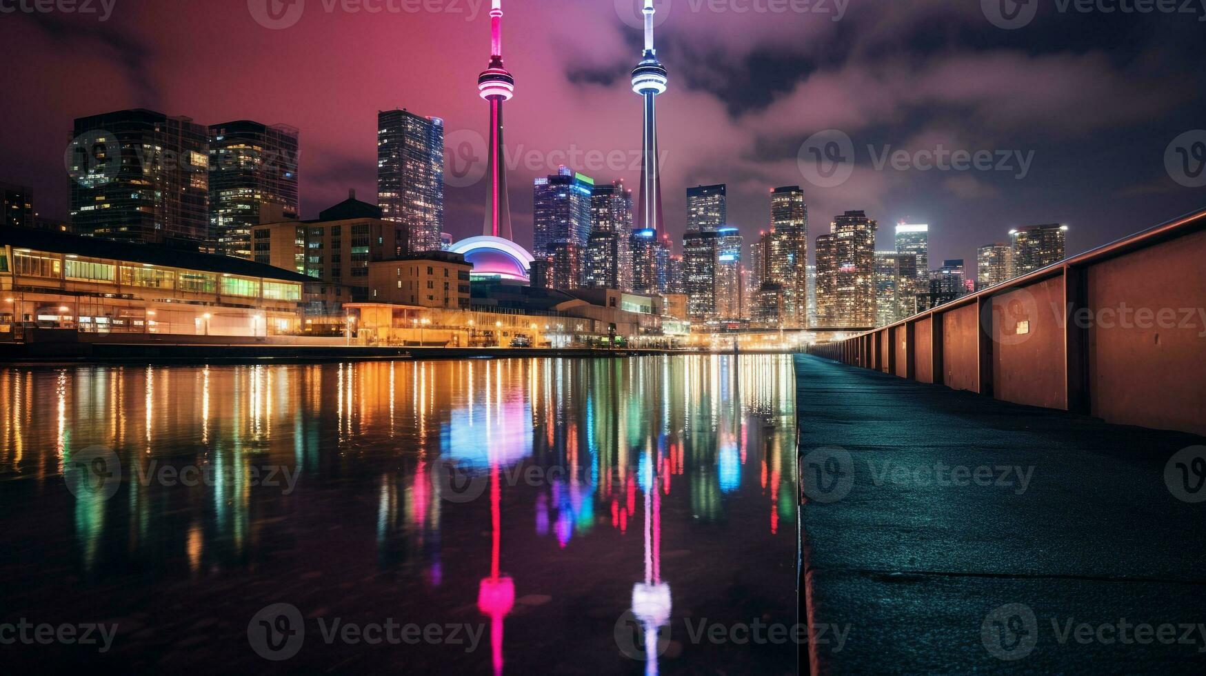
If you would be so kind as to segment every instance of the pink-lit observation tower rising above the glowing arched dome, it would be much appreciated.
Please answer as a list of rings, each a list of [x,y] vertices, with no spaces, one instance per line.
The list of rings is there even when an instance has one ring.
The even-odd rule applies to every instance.
[[[511,237],[511,210],[507,203],[507,165],[503,155],[503,101],[515,95],[515,78],[503,68],[503,2],[490,4],[490,66],[478,76],[478,94],[490,101],[490,203],[482,234]]]

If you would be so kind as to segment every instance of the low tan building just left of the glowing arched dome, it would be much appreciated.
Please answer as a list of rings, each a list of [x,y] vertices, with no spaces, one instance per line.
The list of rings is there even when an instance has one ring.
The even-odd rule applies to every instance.
[[[461,253],[423,251],[392,261],[369,262],[369,298],[421,308],[467,309],[469,272]]]

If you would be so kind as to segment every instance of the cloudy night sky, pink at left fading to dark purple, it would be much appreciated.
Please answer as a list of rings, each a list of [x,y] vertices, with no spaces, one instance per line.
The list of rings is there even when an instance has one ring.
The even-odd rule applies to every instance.
[[[33,186],[43,215],[68,211],[72,118],[127,107],[300,128],[306,217],[349,188],[373,199],[377,110],[444,118],[458,173],[480,156],[488,1],[74,0],[51,13],[19,1],[0,13],[0,181]],[[532,179],[567,158],[597,181],[639,180],[640,103],[627,82],[637,4],[504,0],[521,244],[531,244]],[[798,183],[813,237],[862,209],[880,221],[880,247],[897,221],[929,222],[931,261],[968,263],[1019,225],[1069,223],[1078,252],[1206,206],[1206,132],[1194,133],[1206,128],[1206,7],[1173,5],[1185,11],[1123,12],[1118,0],[1089,11],[1065,0],[662,0],[671,235],[683,232],[685,187],[713,182],[728,185],[730,221],[748,238],[766,227],[769,188]],[[944,152],[965,162],[936,159]],[[446,200],[446,229],[478,234],[484,182],[449,186]]]

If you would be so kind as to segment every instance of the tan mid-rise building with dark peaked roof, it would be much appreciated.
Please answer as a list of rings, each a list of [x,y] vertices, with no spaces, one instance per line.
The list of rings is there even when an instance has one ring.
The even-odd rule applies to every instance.
[[[330,315],[344,303],[370,301],[369,263],[406,255],[408,232],[351,191],[346,200],[321,211],[316,220],[257,226],[252,246],[256,261],[310,278],[306,311]]]

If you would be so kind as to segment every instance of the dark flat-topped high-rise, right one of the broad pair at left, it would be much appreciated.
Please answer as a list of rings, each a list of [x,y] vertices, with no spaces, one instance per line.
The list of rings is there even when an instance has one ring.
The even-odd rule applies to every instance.
[[[297,218],[298,130],[236,120],[209,128],[210,228],[227,256],[251,258],[251,231]],[[279,209],[260,208],[265,204]]]

